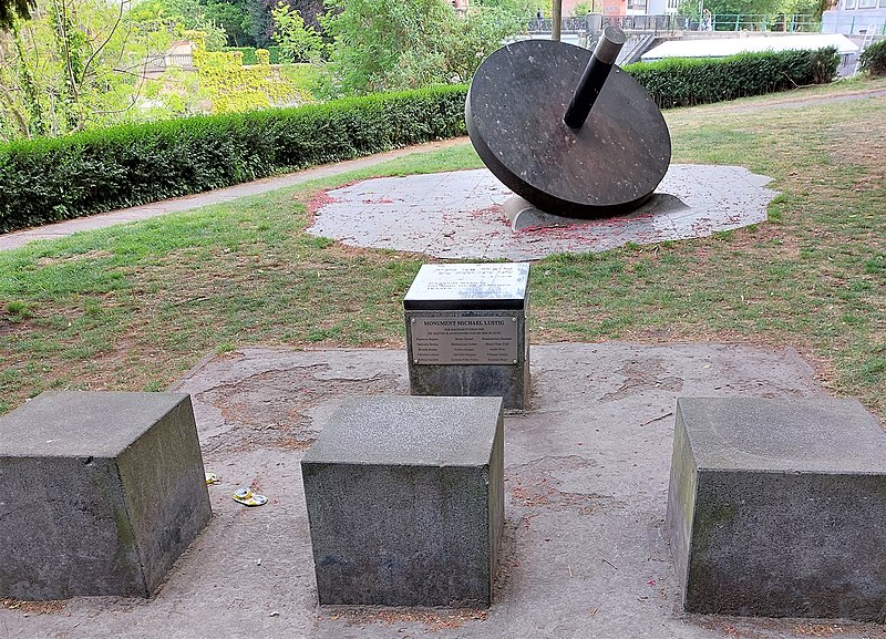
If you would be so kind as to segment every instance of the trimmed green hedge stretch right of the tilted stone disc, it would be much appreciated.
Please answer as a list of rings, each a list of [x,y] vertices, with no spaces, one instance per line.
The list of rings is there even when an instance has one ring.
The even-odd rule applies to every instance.
[[[742,53],[731,58],[671,58],[625,68],[662,107],[692,106],[831,82],[839,58],[817,51]]]

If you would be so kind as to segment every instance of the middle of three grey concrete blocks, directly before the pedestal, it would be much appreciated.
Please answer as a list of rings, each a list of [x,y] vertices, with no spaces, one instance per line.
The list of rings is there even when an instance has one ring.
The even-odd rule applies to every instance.
[[[488,606],[501,398],[351,398],[301,462],[320,604]]]

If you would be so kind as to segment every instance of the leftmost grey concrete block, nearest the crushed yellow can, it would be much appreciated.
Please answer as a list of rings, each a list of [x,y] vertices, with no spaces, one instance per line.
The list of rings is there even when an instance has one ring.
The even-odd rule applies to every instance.
[[[42,393],[0,418],[0,598],[147,597],[212,517],[181,393]]]

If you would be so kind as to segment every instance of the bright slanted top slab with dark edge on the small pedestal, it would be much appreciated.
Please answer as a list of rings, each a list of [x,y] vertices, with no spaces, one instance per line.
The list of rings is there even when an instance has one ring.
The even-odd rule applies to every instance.
[[[403,308],[522,309],[528,276],[528,264],[425,264],[403,298]]]

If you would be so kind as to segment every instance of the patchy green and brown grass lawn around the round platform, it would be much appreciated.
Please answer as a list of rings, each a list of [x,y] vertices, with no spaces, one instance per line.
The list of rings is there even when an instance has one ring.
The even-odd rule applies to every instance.
[[[792,346],[835,394],[886,418],[886,81],[666,113],[674,163],[774,178],[770,221],[539,260],[534,342]],[[0,252],[0,413],[47,389],[162,390],[245,344],[403,347],[421,256],[308,236],[320,189],[482,166],[470,145]]]

